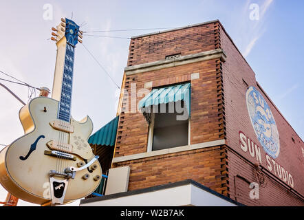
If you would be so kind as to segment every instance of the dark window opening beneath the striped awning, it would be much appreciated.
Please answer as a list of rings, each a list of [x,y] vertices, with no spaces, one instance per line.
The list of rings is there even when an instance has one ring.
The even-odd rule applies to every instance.
[[[169,111],[169,104],[175,106],[173,111]],[[158,151],[189,144],[188,115],[186,118],[183,117],[184,112],[179,113],[180,111],[176,107],[176,105],[180,105],[183,109],[184,102],[171,102],[169,104],[166,104],[165,113],[161,113],[162,111],[151,113],[148,151]]]

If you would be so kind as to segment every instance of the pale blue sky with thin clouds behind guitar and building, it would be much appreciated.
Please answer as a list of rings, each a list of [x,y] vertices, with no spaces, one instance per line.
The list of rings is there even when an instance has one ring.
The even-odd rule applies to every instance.
[[[50,41],[51,28],[55,28],[62,17],[72,17],[76,23],[83,24],[80,30],[88,32],[179,28],[219,19],[252,67],[261,87],[304,140],[304,1],[0,0],[0,71],[34,87],[52,90],[56,45]],[[94,34],[130,37],[155,31]],[[127,66],[129,41],[83,36],[85,47],[119,86]],[[80,43],[76,47],[72,116],[80,120],[89,115],[95,132],[116,116],[119,89],[85,47]],[[0,78],[12,80],[1,73]],[[0,83],[28,102],[27,87],[2,80]],[[0,144],[10,144],[23,135],[18,117],[23,105],[2,87],[0,100]],[[0,150],[3,147],[0,145]],[[0,186],[0,201],[6,199],[6,193]],[[33,204],[19,201],[19,206]]]

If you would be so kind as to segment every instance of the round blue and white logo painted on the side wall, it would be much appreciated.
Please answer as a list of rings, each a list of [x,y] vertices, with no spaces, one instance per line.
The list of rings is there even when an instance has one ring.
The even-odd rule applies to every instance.
[[[279,156],[279,132],[270,107],[255,87],[246,93],[247,109],[257,138],[264,151],[273,158]]]

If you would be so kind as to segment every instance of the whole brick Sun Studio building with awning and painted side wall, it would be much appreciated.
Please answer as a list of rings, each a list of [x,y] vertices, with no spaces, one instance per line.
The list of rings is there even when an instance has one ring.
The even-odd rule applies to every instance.
[[[160,113],[174,102],[186,120]],[[127,188],[113,192],[192,179],[247,206],[304,205],[303,140],[219,21],[132,37],[118,115],[107,187],[127,167]]]

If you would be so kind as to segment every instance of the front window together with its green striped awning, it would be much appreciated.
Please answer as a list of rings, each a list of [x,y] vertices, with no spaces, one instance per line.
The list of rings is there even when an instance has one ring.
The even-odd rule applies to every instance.
[[[138,109],[149,123],[148,152],[189,144],[191,83],[154,88]]]

